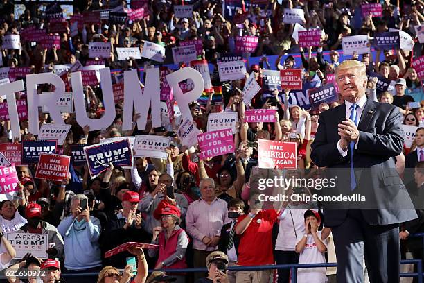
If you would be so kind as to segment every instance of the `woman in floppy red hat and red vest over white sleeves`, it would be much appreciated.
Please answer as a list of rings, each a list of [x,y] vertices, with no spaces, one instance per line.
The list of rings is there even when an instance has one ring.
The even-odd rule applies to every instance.
[[[154,218],[161,219],[161,227],[153,228],[152,243],[160,246],[159,258],[155,269],[160,268],[186,268],[186,248],[188,236],[179,227],[181,212],[178,207],[162,200],[154,210]],[[149,256],[157,256],[158,250],[149,250]],[[184,276],[175,276],[177,283],[185,282]]]

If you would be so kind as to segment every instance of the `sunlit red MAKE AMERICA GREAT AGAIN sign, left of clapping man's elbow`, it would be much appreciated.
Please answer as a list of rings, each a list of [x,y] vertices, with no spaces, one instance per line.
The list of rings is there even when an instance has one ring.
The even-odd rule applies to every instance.
[[[259,168],[296,169],[296,147],[295,142],[258,139]]]

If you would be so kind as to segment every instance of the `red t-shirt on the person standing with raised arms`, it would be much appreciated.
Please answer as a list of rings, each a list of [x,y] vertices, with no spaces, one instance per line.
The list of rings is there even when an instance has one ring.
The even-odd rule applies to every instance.
[[[274,264],[272,252],[272,225],[278,214],[274,209],[260,211],[240,237],[238,262],[240,266]],[[247,215],[238,217],[240,223]]]

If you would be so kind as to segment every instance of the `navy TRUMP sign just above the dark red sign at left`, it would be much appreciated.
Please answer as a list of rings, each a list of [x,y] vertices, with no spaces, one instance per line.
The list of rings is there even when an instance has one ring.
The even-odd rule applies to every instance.
[[[56,140],[22,141],[22,164],[37,164],[42,153],[56,153]]]

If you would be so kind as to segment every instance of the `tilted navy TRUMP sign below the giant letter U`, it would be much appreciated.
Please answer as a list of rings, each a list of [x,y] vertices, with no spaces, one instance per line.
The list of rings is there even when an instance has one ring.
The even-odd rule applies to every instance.
[[[128,139],[85,146],[84,153],[91,178],[96,178],[107,170],[110,163],[114,166],[132,168],[132,148]]]

